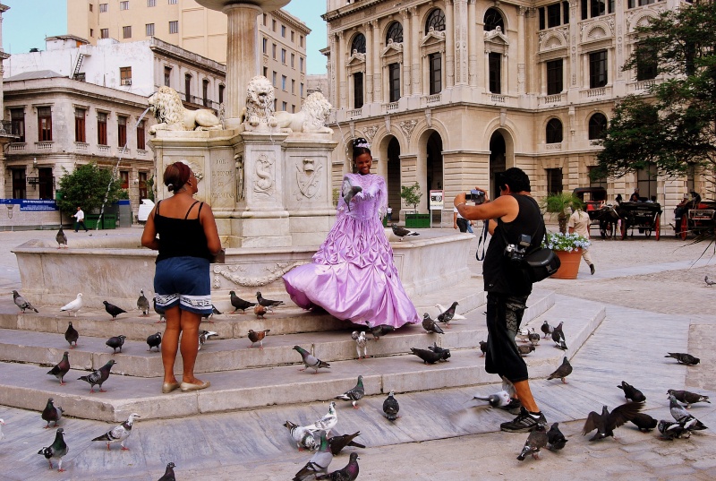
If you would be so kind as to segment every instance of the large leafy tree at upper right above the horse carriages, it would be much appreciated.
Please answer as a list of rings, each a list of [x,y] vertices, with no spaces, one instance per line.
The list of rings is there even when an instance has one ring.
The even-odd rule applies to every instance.
[[[592,178],[653,164],[666,176],[694,168],[716,179],[716,3],[682,4],[636,30],[639,47],[624,70],[655,59],[669,78],[618,102]]]

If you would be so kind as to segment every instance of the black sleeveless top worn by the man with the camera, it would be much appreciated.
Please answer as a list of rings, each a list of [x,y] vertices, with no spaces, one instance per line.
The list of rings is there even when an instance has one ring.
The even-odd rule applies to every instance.
[[[525,279],[514,264],[505,257],[505,239],[509,244],[519,244],[519,236],[532,236],[527,252],[541,245],[544,239],[544,220],[540,207],[530,195],[512,194],[519,205],[517,217],[512,222],[498,219],[498,227],[490,238],[485,260],[482,262],[482,276],[487,292],[512,296],[527,296],[532,292],[532,282]],[[504,236],[502,235],[504,233]]]

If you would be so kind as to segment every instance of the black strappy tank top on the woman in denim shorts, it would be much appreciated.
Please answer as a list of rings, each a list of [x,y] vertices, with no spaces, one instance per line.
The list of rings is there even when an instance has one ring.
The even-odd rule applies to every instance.
[[[164,217],[159,214],[159,205],[157,202],[157,210],[154,212],[154,225],[159,234],[159,254],[157,261],[162,261],[170,257],[201,257],[211,259],[209,246],[207,245],[207,236],[204,234],[204,228],[201,226],[199,214],[204,202],[196,201],[192,203],[183,219],[175,219],[172,217]],[[196,219],[187,219],[189,212],[199,203],[199,212]]]

